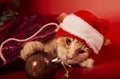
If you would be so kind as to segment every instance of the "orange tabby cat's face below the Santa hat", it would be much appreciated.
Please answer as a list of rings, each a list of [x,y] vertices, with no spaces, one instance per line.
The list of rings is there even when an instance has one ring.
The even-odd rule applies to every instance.
[[[58,57],[66,64],[79,64],[88,58],[90,49],[81,41],[70,37],[56,39]]]

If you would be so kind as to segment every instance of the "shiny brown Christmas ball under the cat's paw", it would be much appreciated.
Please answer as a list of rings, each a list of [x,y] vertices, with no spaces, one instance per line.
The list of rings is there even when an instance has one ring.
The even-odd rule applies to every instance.
[[[37,53],[26,60],[25,70],[30,79],[53,79],[57,65],[52,63],[53,57],[47,53]]]

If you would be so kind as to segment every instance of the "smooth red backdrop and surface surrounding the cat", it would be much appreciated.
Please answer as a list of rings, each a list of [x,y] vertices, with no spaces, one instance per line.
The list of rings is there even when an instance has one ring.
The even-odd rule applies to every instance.
[[[106,34],[112,42],[104,46],[99,55],[93,56],[95,66],[92,69],[75,68],[70,72],[71,79],[120,79],[120,0],[20,0],[20,14],[72,13],[88,10],[97,16],[109,19],[110,29]],[[60,79],[64,70],[58,71],[55,79]],[[0,79],[27,79],[25,72],[15,72],[0,76]]]

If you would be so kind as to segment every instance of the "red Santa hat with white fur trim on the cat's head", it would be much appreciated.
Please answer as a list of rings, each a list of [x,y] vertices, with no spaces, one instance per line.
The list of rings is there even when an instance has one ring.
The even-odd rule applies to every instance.
[[[55,37],[67,36],[82,40],[94,53],[98,54],[108,26],[108,20],[99,18],[88,11],[80,10],[63,19]]]

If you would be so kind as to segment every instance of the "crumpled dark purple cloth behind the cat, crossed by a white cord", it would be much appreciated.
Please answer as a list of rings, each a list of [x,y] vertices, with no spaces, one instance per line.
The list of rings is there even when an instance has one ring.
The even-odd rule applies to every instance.
[[[14,21],[9,22],[9,26],[7,26],[4,31],[0,32],[1,35],[4,35],[4,37],[1,37],[0,44],[9,38],[15,38],[19,40],[27,39],[47,23],[52,22],[57,24],[57,21],[55,19],[56,15],[51,16],[52,18],[50,18],[49,15],[36,14],[29,17],[16,18]],[[55,34],[55,28],[56,26],[53,24],[48,25],[48,27],[43,28],[43,30],[40,31],[36,36],[25,42],[17,42],[15,40],[6,42],[1,49],[1,54],[6,59],[6,62],[4,63],[2,58],[0,58],[0,66],[5,65],[18,58],[20,55],[20,50],[23,48],[26,42],[33,40],[45,42],[48,39],[52,38]]]

